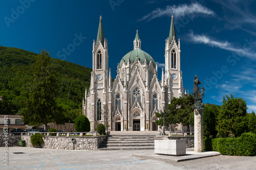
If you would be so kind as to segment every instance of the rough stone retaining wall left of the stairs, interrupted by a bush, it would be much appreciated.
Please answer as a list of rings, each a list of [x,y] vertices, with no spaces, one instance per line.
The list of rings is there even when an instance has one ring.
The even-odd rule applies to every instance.
[[[72,141],[74,139],[74,142]],[[98,150],[100,143],[106,136],[44,136],[42,148],[60,150]],[[30,136],[22,135],[22,140],[26,141],[26,147],[33,147]]]

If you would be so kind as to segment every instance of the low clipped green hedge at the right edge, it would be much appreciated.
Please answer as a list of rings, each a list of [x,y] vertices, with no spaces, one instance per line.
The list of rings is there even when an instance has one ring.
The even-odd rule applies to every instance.
[[[256,134],[249,132],[237,138],[212,139],[212,150],[222,155],[256,156]]]

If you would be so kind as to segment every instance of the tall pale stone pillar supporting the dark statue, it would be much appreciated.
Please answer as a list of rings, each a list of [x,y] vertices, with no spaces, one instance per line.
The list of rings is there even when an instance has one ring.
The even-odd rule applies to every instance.
[[[195,152],[203,152],[204,151],[204,124],[203,124],[203,111],[199,111],[194,109],[194,131],[195,131],[195,143],[194,148]]]

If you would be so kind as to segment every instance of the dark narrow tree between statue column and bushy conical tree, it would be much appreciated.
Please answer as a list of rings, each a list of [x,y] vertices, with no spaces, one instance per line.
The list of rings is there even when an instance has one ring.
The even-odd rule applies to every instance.
[[[204,105],[204,136],[206,137],[216,137],[216,118],[218,116],[218,107],[217,105],[206,104]]]

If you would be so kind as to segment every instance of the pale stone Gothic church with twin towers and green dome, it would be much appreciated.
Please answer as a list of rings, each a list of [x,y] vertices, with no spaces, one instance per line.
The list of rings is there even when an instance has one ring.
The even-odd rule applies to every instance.
[[[161,81],[153,57],[141,49],[142,42],[137,30],[131,42],[134,48],[120,57],[117,76],[112,81],[108,40],[104,38],[100,16],[97,39],[93,40],[91,85],[86,90],[82,108],[90,120],[91,130],[101,123],[109,125],[108,130],[112,131],[157,131],[155,112],[162,112],[174,97],[184,97],[180,39],[177,41],[173,16],[165,40]]]

